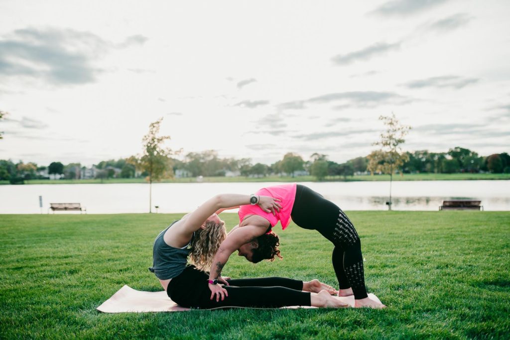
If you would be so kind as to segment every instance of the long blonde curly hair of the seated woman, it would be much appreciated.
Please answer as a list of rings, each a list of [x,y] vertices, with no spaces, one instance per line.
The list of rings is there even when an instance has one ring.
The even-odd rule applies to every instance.
[[[191,241],[190,262],[196,268],[208,271],[221,242],[226,238],[225,222],[207,221],[205,229],[198,229]]]

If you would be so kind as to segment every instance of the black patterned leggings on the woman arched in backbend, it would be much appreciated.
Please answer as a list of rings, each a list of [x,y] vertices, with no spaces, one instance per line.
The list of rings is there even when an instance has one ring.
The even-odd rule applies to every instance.
[[[340,289],[352,287],[355,299],[366,298],[361,241],[345,213],[319,193],[297,184],[291,217],[299,227],[317,230],[333,242],[333,268]]]

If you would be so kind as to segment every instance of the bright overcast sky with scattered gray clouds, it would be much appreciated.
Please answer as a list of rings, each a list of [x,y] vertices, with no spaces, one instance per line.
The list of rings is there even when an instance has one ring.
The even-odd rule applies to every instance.
[[[272,163],[403,149],[510,152],[510,2],[0,2],[0,159],[141,151],[164,117],[184,154]]]

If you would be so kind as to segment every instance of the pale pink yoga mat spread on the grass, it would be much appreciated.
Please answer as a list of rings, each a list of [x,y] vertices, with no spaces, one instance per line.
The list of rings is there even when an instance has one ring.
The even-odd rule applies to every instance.
[[[368,296],[375,301],[380,300],[373,294]],[[354,306],[354,296],[337,297]],[[233,307],[220,307],[220,308],[233,308]],[[239,307],[234,307],[239,308]],[[310,306],[292,306],[283,308],[316,308]],[[218,308],[214,308],[218,309]],[[158,312],[158,311],[186,311],[190,308],[185,308],[177,305],[170,300],[165,290],[161,292],[142,292],[136,290],[128,285],[124,285],[118,290],[110,299],[106,300],[103,304],[97,307],[97,310],[104,313],[142,313],[142,312]]]

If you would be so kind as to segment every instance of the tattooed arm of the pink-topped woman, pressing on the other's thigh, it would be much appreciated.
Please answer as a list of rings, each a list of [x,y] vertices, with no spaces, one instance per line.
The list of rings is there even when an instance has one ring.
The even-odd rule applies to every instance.
[[[209,280],[214,280],[220,277],[221,270],[232,253],[234,253],[242,245],[264,235],[266,230],[267,227],[265,226],[244,226],[228,233],[227,238],[221,242],[221,245],[214,256],[213,265],[209,272]],[[219,284],[209,284],[209,289],[211,289],[211,300],[216,297],[216,301],[219,301],[221,297],[221,301],[223,301],[225,296],[228,296],[226,289]]]

